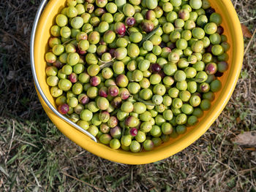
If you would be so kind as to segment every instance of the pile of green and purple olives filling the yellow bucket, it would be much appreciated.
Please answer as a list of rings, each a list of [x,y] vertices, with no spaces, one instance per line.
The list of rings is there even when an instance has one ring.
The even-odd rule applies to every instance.
[[[47,83],[62,115],[113,149],[152,150],[211,108],[230,45],[208,0],[67,0]]]

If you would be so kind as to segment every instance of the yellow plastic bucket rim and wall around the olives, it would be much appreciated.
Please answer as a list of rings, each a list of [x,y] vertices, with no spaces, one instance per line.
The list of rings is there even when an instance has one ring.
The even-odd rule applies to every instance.
[[[35,31],[34,45],[31,47],[32,49],[34,47],[34,59],[32,63],[34,64],[39,85],[48,101],[55,107],[56,104],[50,94],[49,86],[46,83],[46,63],[44,57],[48,50],[50,27],[55,23],[55,17],[64,7],[64,4],[64,0],[50,0],[48,2],[39,18],[37,31]],[[189,127],[186,134],[180,135],[176,139],[170,138],[169,142],[165,142],[149,152],[143,151],[140,153],[131,153],[124,150],[113,150],[99,142],[94,142],[86,136],[86,134],[82,134],[78,129],[70,126],[69,123],[59,118],[58,115],[50,110],[48,105],[45,104],[45,101],[42,99],[42,96],[37,92],[42,107],[50,120],[53,121],[64,135],[80,145],[80,147],[83,147],[85,150],[88,150],[99,157],[122,164],[148,164],[154,161],[159,161],[170,155],[174,155],[185,147],[191,145],[208,130],[212,123],[214,123],[214,120],[217,119],[218,115],[227,104],[227,101],[230,99],[230,96],[236,87],[244,56],[243,35],[233,4],[230,0],[211,0],[211,6],[214,7],[223,18],[222,26],[225,28],[224,34],[227,36],[227,42],[230,44],[230,50],[228,51],[228,55],[230,56],[228,61],[229,69],[221,78],[219,78],[219,80],[222,81],[222,89],[216,93],[216,99],[212,102],[211,109],[204,112],[203,117],[199,119],[199,123],[197,123],[196,126]]]

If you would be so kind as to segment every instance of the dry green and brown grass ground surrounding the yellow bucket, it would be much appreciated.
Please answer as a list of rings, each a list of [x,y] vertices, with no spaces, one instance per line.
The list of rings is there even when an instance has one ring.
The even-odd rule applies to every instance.
[[[256,26],[256,2],[233,0]],[[245,38],[241,78],[206,134],[154,164],[116,164],[83,150],[53,126],[31,77],[29,38],[38,0],[0,1],[0,191],[256,191],[256,152],[233,145],[256,130],[256,38]]]

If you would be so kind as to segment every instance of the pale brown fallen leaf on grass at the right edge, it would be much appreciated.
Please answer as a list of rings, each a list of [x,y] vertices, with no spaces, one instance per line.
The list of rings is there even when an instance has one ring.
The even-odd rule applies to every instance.
[[[256,131],[246,131],[243,134],[238,134],[231,141],[238,145],[256,147]]]

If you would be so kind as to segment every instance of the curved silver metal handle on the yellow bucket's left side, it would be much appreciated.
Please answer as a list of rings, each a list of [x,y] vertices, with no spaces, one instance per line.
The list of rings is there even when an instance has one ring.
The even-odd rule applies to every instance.
[[[34,24],[33,24],[33,28],[32,28],[32,31],[31,31],[30,60],[31,60],[31,70],[32,70],[32,74],[33,74],[34,83],[37,86],[37,90],[38,90],[39,94],[42,96],[42,99],[48,105],[50,110],[52,110],[57,116],[59,116],[59,118],[61,118],[62,120],[65,120],[67,123],[69,123],[69,125],[75,127],[76,129],[78,129],[78,131],[82,132],[83,134],[86,134],[88,137],[93,139],[94,142],[97,142],[96,137],[94,137],[92,134],[90,134],[89,131],[84,130],[83,128],[78,126],[76,123],[74,123],[71,120],[69,120],[68,118],[66,118],[64,115],[61,115],[61,113],[58,110],[56,110],[56,108],[53,107],[52,104],[50,104],[50,101],[45,96],[45,93],[43,93],[42,88],[39,85],[39,82],[37,80],[37,72],[36,72],[35,65],[34,65],[34,37],[35,37],[36,31],[37,31],[37,24],[38,24],[40,15],[41,15],[42,10],[44,9],[45,4],[47,3],[47,1],[48,0],[42,0],[41,4],[39,5],[39,9],[37,10],[37,15],[34,19]]]

